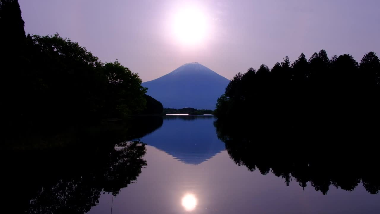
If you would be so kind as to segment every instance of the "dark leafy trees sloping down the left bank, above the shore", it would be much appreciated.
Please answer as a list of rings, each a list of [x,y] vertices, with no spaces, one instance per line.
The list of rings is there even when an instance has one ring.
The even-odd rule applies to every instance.
[[[0,0],[3,122],[29,125],[161,113],[137,73],[70,39],[25,35],[17,0]]]

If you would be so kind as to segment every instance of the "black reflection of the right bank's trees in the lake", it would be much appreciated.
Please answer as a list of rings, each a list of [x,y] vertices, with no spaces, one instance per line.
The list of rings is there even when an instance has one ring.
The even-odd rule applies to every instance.
[[[360,182],[371,194],[380,190],[377,152],[366,141],[343,141],[339,135],[330,138],[322,130],[314,133],[321,135],[315,141],[309,134],[282,132],[276,126],[260,128],[225,121],[214,124],[231,159],[249,171],[264,175],[272,172],[287,185],[293,180],[302,188],[311,185],[323,194],[331,187],[352,191]]]

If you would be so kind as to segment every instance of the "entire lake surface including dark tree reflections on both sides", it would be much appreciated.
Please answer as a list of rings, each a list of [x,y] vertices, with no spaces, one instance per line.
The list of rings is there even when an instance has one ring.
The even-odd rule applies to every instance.
[[[147,120],[155,127],[129,136],[134,141],[116,139],[95,158],[86,152],[78,160],[49,157],[73,160],[40,168],[24,162],[26,175],[3,174],[17,174],[3,184],[17,194],[3,197],[24,213],[380,213],[378,164],[325,157],[320,148],[316,157],[283,151],[274,158],[271,150],[244,145],[244,137],[224,134],[214,121]]]

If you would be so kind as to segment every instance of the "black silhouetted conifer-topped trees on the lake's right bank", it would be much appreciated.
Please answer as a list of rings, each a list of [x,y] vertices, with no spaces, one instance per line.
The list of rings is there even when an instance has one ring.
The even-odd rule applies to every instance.
[[[218,123],[249,121],[250,129],[269,136],[317,139],[329,133],[360,139],[377,133],[379,98],[380,60],[374,52],[358,63],[350,54],[329,59],[321,50],[309,60],[302,53],[293,63],[285,57],[272,69],[263,64],[237,73],[214,113]]]

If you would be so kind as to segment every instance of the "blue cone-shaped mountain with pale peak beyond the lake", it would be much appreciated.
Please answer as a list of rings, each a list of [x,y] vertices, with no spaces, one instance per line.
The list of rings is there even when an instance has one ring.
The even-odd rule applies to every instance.
[[[157,99],[164,108],[215,109],[229,80],[198,62],[182,65],[152,81],[142,83],[147,94]]]

